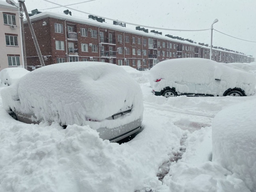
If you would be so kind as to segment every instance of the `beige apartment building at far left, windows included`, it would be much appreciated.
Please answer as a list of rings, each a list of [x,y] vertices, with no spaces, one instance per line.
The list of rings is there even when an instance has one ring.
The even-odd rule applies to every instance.
[[[0,71],[23,65],[18,8],[0,1]]]

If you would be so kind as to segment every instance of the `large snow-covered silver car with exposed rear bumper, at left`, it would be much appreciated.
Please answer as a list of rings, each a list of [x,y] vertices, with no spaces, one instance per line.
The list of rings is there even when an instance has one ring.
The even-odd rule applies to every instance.
[[[89,125],[112,142],[141,128],[140,86],[121,67],[109,63],[45,66],[3,88],[1,96],[5,110],[25,123]]]

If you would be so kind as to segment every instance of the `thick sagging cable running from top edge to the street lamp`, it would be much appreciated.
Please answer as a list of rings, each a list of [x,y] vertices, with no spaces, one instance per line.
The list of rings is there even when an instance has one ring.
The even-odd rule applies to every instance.
[[[81,13],[94,15],[94,16],[97,16],[97,17],[103,17],[103,16],[100,16],[100,15],[95,15],[95,14],[87,13],[87,12],[80,11],[80,10],[77,10],[77,9],[73,9],[73,8],[67,7],[66,5],[60,5],[58,3],[54,3],[54,2],[51,2],[51,1],[48,1],[48,0],[43,0],[43,1],[58,5],[59,7],[65,7],[65,8],[74,10],[74,11],[78,11],[78,12],[81,12]],[[199,29],[199,30],[168,29],[168,28],[160,28],[160,27],[151,27],[151,26],[146,26],[146,25],[140,25],[140,24],[136,24],[136,23],[129,23],[129,22],[126,22],[126,21],[111,19],[111,18],[108,18],[108,17],[103,17],[103,18],[108,19],[108,20],[114,20],[114,21],[117,21],[117,22],[123,22],[123,23],[129,24],[129,25],[142,26],[142,27],[147,27],[147,28],[152,28],[152,29],[159,29],[159,30],[167,30],[167,31],[207,31],[207,30],[210,30],[210,29]]]

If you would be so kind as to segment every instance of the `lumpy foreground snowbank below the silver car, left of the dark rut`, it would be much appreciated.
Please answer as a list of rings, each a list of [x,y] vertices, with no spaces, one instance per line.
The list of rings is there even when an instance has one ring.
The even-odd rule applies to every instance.
[[[32,125],[0,100],[0,191],[133,192],[161,186],[158,167],[180,145],[180,129],[146,115],[132,141],[110,143],[88,126]]]

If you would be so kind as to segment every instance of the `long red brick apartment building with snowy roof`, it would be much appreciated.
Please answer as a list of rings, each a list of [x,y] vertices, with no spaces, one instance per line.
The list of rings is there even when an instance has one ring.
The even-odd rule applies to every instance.
[[[139,70],[152,67],[167,59],[182,57],[209,58],[210,47],[189,39],[162,36],[161,32],[141,27],[126,28],[125,24],[105,23],[105,19],[89,19],[66,14],[32,12],[30,20],[36,34],[45,65],[71,61],[101,61],[129,65]],[[33,39],[25,21],[25,41],[29,70],[40,66]],[[29,43],[28,43],[29,42]],[[247,62],[245,54],[213,49],[218,62]],[[250,60],[254,59],[250,57]],[[139,66],[139,67],[138,67]]]

